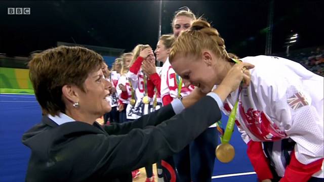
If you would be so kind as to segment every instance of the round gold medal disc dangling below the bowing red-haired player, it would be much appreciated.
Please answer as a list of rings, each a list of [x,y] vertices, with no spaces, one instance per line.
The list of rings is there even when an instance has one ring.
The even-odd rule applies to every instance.
[[[227,163],[233,160],[235,156],[235,149],[230,144],[221,144],[216,148],[216,157],[219,161]]]

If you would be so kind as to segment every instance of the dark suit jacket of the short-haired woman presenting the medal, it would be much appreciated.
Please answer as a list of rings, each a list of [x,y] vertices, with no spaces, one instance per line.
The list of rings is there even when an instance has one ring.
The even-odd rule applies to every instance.
[[[221,118],[211,97],[175,115],[171,105],[132,122],[57,125],[47,116],[23,135],[26,181],[132,181],[131,171],[181,151]]]

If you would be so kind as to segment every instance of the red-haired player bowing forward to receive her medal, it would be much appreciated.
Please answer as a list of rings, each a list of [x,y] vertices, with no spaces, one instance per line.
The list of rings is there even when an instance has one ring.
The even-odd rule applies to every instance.
[[[204,20],[178,37],[169,58],[185,85],[204,93],[223,83],[235,64],[218,31]],[[251,72],[241,70],[251,74],[251,83],[231,93],[224,110],[238,101],[236,124],[259,180],[323,181],[323,77],[284,58],[241,61],[255,65]]]

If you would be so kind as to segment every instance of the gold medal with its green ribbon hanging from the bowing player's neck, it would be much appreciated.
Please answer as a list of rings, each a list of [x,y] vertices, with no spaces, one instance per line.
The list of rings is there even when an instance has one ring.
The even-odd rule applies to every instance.
[[[232,59],[232,60],[235,63],[239,63],[238,60],[234,60],[234,59]],[[236,115],[236,111],[237,111],[238,98],[240,95],[240,91],[241,91],[241,86],[239,86],[239,88],[238,88],[237,100],[235,102],[234,107],[232,108],[231,113],[229,114],[228,121],[227,121],[226,128],[225,128],[224,132],[223,132],[223,128],[222,128],[222,122],[221,121],[217,122],[217,129],[221,133],[221,136],[220,136],[221,144],[217,146],[217,148],[215,150],[215,154],[216,154],[216,158],[223,163],[228,163],[228,162],[232,161],[235,156],[235,149],[232,145],[229,144],[229,141],[231,139],[231,136],[232,136],[232,133],[234,130],[235,115]]]

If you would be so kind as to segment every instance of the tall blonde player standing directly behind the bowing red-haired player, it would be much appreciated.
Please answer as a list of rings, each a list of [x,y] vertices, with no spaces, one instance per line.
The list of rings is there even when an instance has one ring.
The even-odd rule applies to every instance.
[[[189,29],[195,19],[195,15],[188,8],[176,12],[172,21],[174,36],[178,37],[182,31]],[[164,63],[161,73],[161,97],[164,105],[168,105],[174,98],[189,95],[193,88],[193,85],[184,86],[169,60]],[[217,142],[216,124],[213,124],[180,153],[174,155],[177,181],[211,181]]]

